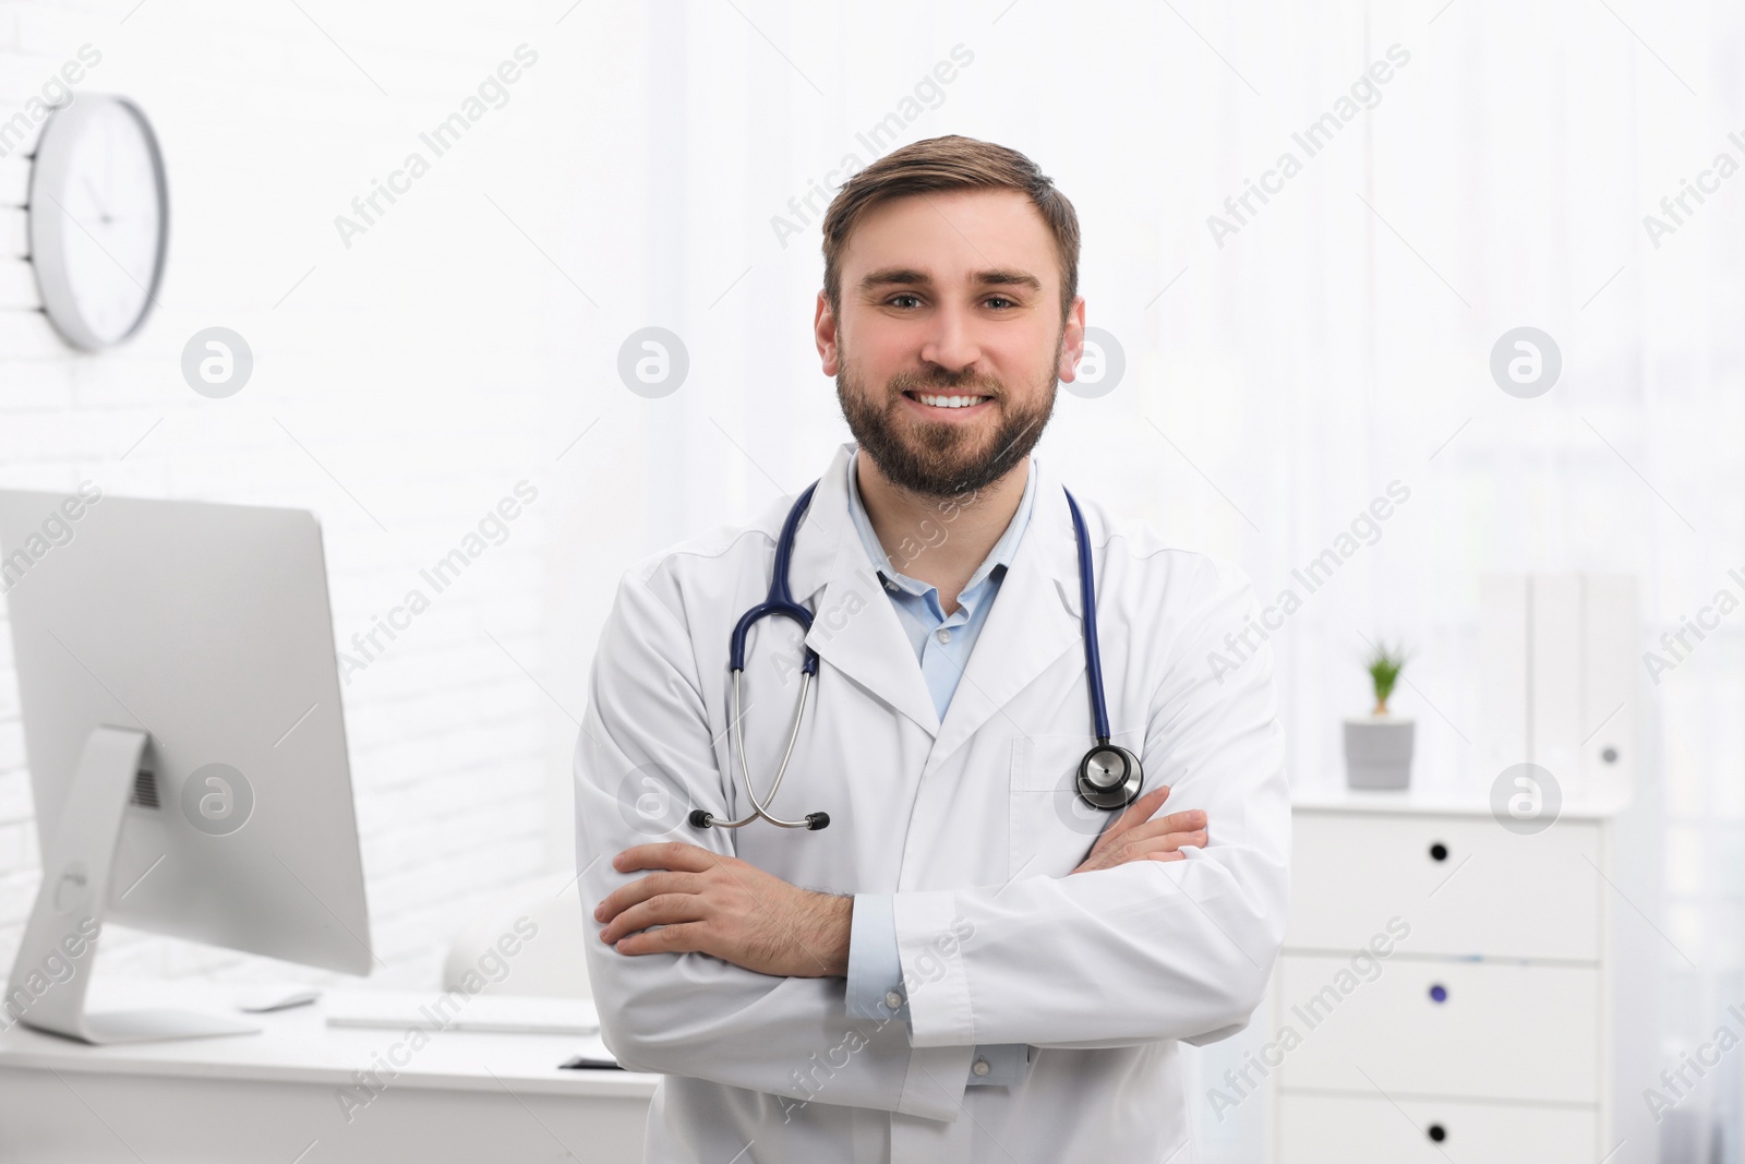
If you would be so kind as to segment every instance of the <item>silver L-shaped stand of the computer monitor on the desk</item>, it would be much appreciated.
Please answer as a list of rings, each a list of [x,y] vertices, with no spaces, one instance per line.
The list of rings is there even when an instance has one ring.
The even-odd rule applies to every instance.
[[[54,838],[42,853],[42,888],[12,963],[0,1026],[17,1019],[87,1044],[255,1035],[260,1026],[199,1010],[86,1012],[122,813],[150,736],[136,728],[92,728],[66,792]]]

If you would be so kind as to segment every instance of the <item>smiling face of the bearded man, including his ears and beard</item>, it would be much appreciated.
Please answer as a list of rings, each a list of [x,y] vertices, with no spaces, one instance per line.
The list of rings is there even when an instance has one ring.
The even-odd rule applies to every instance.
[[[818,295],[818,354],[860,448],[900,489],[955,497],[1021,464],[1084,351],[1061,267],[1017,190],[914,194],[848,236],[841,316]]]

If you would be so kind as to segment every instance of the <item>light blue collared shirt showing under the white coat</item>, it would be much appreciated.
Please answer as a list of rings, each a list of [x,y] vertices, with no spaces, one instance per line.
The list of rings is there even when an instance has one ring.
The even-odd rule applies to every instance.
[[[930,544],[939,544],[939,536],[949,537],[949,522],[955,513],[941,511],[934,518],[934,527],[923,527],[920,536],[886,555],[866,504],[860,501],[857,482],[859,450],[848,461],[848,515],[853,518],[860,544],[866,546],[867,558],[890,595],[897,609],[897,621],[909,635],[909,646],[921,665],[927,679],[927,691],[934,696],[939,719],[946,717],[951,696],[963,679],[970,651],[981,628],[993,609],[1000,581],[1005,578],[1017,543],[1030,524],[1030,511],[1037,497],[1037,466],[1030,466],[1024,482],[1024,496],[1017,503],[1010,525],[993,544],[982,564],[970,574],[968,583],[958,595],[958,609],[946,614],[939,602],[939,588],[909,578],[902,567],[918,560]],[[937,532],[935,532],[937,531]],[[902,960],[897,949],[897,921],[892,909],[890,894],[855,894],[853,918],[848,930],[848,1012],[885,1019],[892,1014],[909,1019],[909,1007],[902,996]],[[1030,1047],[1024,1044],[984,1044],[975,1047],[975,1061],[970,1068],[970,1087],[988,1084],[1016,1084],[1024,1077],[1030,1061]],[[975,1068],[986,1065],[986,1073],[977,1075]]]

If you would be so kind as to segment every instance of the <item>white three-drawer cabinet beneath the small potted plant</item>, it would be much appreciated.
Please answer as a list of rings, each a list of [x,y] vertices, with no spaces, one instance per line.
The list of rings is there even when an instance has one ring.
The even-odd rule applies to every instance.
[[[1522,836],[1483,805],[1295,808],[1263,1063],[1272,1159],[1591,1164],[1618,1148],[1611,825]],[[1623,1164],[1649,1145],[1609,1157]]]

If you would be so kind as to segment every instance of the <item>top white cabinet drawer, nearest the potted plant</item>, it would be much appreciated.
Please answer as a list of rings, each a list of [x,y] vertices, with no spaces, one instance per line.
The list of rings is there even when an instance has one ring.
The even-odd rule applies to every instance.
[[[1567,958],[1600,949],[1600,838],[1520,836],[1488,817],[1298,811],[1286,948],[1356,949],[1399,918],[1413,955]]]

